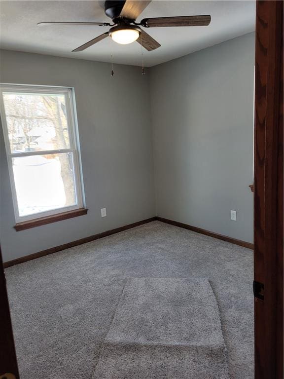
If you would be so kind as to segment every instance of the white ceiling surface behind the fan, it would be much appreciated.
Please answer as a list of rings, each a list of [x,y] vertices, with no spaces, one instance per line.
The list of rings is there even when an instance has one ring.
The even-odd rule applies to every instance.
[[[154,0],[142,12],[146,17],[211,14],[207,27],[149,28],[161,43],[154,51],[143,49],[144,64],[154,66],[254,30],[255,1]],[[71,50],[106,32],[99,26],[37,27],[43,21],[106,21],[104,1],[98,0],[10,0],[0,1],[0,47],[78,59],[141,65],[141,46],[119,45],[106,38],[85,51]]]

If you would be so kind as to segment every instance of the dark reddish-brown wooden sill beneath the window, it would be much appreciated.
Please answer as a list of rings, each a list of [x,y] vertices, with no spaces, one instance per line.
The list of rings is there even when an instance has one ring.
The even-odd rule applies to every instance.
[[[88,209],[80,208],[73,211],[58,213],[57,215],[41,217],[34,220],[23,221],[14,226],[16,231],[30,229],[31,227],[40,227],[41,225],[56,223],[57,221],[71,219],[72,217],[86,215]]]

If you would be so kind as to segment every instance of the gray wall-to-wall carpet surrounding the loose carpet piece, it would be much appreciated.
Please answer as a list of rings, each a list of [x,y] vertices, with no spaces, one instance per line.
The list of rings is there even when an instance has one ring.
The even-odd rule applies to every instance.
[[[252,251],[158,221],[6,270],[21,379],[91,379],[128,277],[207,277],[231,379],[253,378]]]

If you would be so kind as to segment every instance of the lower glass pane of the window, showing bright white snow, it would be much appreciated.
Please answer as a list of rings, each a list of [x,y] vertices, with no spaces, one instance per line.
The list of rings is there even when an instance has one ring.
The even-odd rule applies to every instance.
[[[71,152],[12,161],[20,217],[76,205]]]

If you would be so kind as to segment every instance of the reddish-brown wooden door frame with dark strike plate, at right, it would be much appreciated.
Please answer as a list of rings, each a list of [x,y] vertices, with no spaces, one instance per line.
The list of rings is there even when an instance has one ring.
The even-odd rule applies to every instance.
[[[256,1],[255,379],[283,378],[283,1]]]

